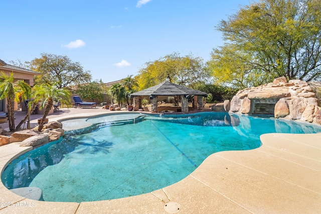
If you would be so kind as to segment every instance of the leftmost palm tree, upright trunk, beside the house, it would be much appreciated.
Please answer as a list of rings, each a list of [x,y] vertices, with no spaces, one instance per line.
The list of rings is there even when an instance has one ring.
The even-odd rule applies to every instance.
[[[0,99],[7,98],[9,129],[13,132],[16,128],[15,101],[19,101],[19,96],[28,94],[30,86],[24,80],[15,81],[14,72],[8,76],[2,71],[0,79]]]

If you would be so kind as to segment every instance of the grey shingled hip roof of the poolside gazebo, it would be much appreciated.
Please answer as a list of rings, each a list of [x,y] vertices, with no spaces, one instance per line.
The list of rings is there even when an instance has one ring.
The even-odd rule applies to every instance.
[[[161,84],[146,88],[135,93],[131,93],[132,96],[173,96],[173,95],[201,95],[207,96],[206,92],[200,90],[194,90],[182,85],[178,85],[169,81],[162,82]]]

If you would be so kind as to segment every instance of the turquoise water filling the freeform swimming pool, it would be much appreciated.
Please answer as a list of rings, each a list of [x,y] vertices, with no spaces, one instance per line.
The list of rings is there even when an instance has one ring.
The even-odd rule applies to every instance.
[[[321,132],[305,123],[224,113],[119,114],[63,126],[84,123],[93,125],[10,163],[2,174],[5,186],[39,187],[46,201],[127,197],[182,180],[215,152],[258,148],[262,134]]]

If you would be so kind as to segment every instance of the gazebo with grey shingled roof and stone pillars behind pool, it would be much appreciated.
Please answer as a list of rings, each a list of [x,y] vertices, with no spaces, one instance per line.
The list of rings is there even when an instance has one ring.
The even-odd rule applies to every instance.
[[[151,112],[157,112],[158,96],[180,96],[181,98],[181,112],[188,113],[189,103],[188,99],[194,95],[194,109],[203,109],[203,96],[207,97],[207,93],[199,90],[194,90],[182,85],[178,85],[169,81],[164,81],[161,84],[146,88],[135,93],[131,93],[133,97],[134,106],[133,110],[138,111],[141,106],[142,96],[149,96],[151,100]]]

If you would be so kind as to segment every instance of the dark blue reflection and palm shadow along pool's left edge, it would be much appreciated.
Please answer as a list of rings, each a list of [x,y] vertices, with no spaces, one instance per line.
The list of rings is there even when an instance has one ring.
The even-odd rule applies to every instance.
[[[4,185],[9,189],[29,186],[39,172],[47,166],[61,162],[67,153],[108,153],[112,147],[111,142],[99,142],[93,138],[78,136],[66,137],[59,141],[34,149],[10,163],[2,174]]]

